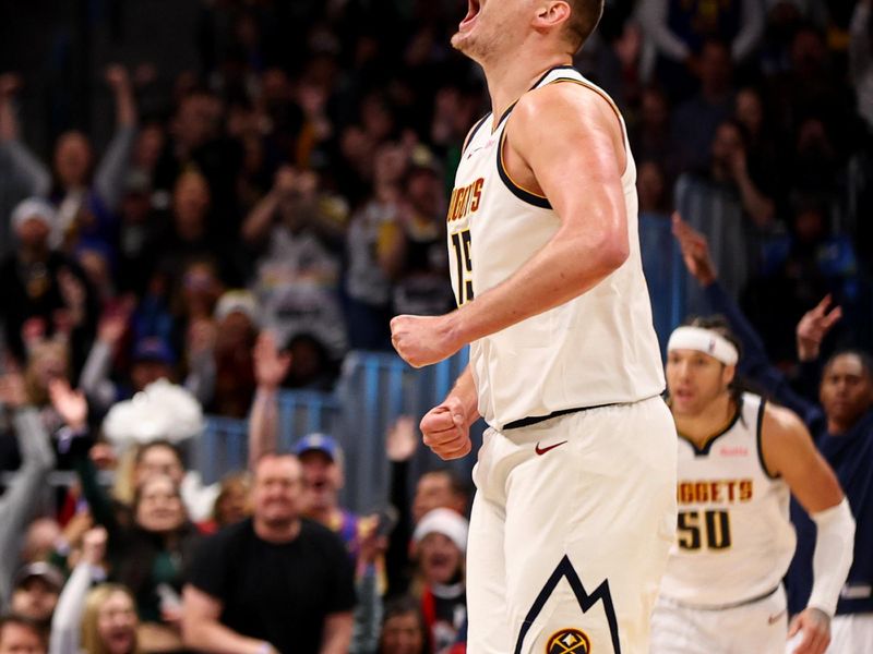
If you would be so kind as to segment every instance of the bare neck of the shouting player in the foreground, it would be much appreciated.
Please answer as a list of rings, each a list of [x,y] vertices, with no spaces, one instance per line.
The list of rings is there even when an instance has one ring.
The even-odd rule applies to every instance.
[[[491,109],[497,126],[500,117],[549,70],[559,65],[570,65],[572,58],[562,52],[526,53],[524,48],[511,57],[501,57],[482,64],[488,92],[491,94]]]

